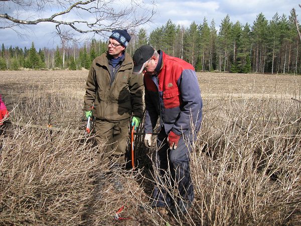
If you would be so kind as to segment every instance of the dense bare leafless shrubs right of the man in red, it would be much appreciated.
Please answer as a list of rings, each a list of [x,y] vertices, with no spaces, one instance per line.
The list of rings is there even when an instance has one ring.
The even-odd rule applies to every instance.
[[[230,97],[211,99],[204,112],[191,155],[196,197],[189,213],[162,216],[145,206],[145,197],[135,196],[150,218],[161,216],[154,224],[300,223],[300,104],[273,96]],[[153,151],[146,154],[148,161],[154,159]],[[140,174],[147,183],[159,183],[159,172],[151,172],[143,169]],[[170,184],[167,181],[165,188],[176,198]],[[146,194],[152,200],[152,192]]]

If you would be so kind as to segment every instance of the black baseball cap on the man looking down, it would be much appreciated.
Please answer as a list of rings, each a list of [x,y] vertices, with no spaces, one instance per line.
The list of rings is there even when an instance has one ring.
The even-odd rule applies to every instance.
[[[153,46],[143,45],[140,46],[133,55],[133,74],[140,74],[144,68],[147,60],[154,55],[155,49]]]

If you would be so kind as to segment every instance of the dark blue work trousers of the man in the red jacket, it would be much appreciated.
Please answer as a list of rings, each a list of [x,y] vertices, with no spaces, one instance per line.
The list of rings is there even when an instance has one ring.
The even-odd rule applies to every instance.
[[[164,128],[157,137],[155,174],[158,181],[153,193],[153,206],[171,207],[181,201],[192,203],[194,190],[190,175],[192,139],[181,136],[176,149],[170,150]],[[192,136],[190,136],[192,137]]]

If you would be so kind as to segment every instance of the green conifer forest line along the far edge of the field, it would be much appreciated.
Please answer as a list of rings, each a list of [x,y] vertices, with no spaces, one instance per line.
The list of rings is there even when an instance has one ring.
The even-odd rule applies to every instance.
[[[204,18],[202,24],[191,23],[188,28],[169,20],[147,36],[145,29],[132,35],[126,51],[133,55],[144,44],[191,63],[196,71],[239,73],[300,73],[300,45],[293,12],[276,13],[270,21],[260,13],[253,25],[233,23],[227,15],[216,29]],[[106,51],[107,41],[92,39],[82,47],[62,43],[54,49],[36,50],[12,46],[0,52],[1,70],[31,69],[88,69],[92,60]]]

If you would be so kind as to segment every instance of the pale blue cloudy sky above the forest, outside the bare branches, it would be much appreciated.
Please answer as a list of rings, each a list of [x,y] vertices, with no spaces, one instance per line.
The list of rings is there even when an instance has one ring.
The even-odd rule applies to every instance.
[[[143,2],[141,1],[141,4],[149,2],[150,0],[144,0]],[[0,2],[1,14],[12,10],[6,9],[3,4],[4,2]],[[154,22],[144,25],[143,28],[149,34],[153,29],[165,25],[169,19],[177,25],[188,27],[193,21],[197,24],[202,24],[204,17],[207,18],[209,24],[214,19],[218,28],[227,14],[233,23],[239,21],[243,25],[245,23],[252,25],[259,13],[263,13],[267,20],[271,20],[276,12],[280,16],[285,14],[288,17],[292,8],[295,8],[296,13],[299,15],[298,20],[301,21],[301,8],[299,8],[298,4],[301,4],[301,0],[299,2],[297,0],[161,0],[157,1],[157,14],[154,17]],[[0,27],[2,22],[0,21]],[[6,47],[12,45],[13,47],[24,48],[26,46],[29,48],[34,41],[37,49],[43,47],[56,48],[59,40],[54,32],[55,25],[51,23],[33,25],[30,29],[22,30],[22,33],[25,34],[22,36],[18,36],[15,31],[10,29],[0,29],[0,44],[4,43]],[[82,35],[81,38],[84,40],[86,36]],[[100,39],[101,37],[95,38]]]

